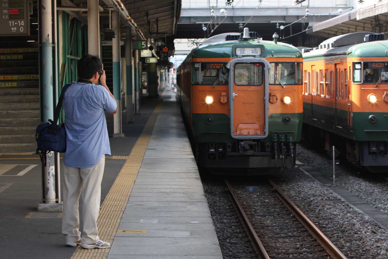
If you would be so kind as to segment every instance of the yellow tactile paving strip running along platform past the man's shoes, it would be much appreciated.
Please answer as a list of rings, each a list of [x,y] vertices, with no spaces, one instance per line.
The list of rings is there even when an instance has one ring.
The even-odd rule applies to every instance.
[[[102,202],[97,220],[100,240],[113,242],[160,110],[161,103],[156,106],[149,117],[123,168]],[[109,249],[82,249],[78,247],[71,259],[102,259],[106,258],[108,253]]]

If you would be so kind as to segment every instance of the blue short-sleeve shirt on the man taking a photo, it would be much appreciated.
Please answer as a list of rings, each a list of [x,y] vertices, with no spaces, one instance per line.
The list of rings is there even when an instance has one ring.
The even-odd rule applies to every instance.
[[[105,87],[73,82],[62,107],[66,127],[64,165],[92,167],[102,155],[111,155],[104,110],[114,112],[117,105]]]

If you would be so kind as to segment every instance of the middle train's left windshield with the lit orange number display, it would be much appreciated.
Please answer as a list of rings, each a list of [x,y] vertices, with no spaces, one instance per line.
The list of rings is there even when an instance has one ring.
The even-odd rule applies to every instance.
[[[192,63],[191,83],[193,85],[227,85],[229,69],[227,63]]]

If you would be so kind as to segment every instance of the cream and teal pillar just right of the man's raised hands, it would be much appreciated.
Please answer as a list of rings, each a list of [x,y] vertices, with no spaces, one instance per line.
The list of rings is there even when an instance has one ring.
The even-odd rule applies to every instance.
[[[120,15],[112,14],[115,38],[112,39],[113,96],[116,99],[117,113],[113,115],[113,137],[124,137],[121,131],[121,69],[120,69]]]

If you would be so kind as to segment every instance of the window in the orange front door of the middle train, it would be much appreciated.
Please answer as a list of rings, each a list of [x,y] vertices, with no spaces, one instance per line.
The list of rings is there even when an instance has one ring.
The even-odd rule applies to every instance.
[[[234,65],[234,83],[236,85],[262,85],[262,64],[237,63]]]

